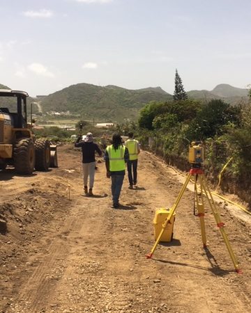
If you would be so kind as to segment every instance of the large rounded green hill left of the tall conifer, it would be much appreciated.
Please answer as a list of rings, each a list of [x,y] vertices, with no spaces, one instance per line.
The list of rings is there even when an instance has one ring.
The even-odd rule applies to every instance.
[[[83,118],[119,121],[124,118],[135,120],[139,109],[151,101],[172,99],[160,87],[128,90],[117,86],[95,86],[88,83],[64,88],[41,99],[43,112],[70,111]]]

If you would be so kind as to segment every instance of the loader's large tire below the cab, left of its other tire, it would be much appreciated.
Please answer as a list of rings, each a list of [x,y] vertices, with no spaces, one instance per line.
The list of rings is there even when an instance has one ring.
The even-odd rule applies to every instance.
[[[23,138],[13,148],[15,171],[18,174],[31,175],[35,164],[35,149],[32,139]]]

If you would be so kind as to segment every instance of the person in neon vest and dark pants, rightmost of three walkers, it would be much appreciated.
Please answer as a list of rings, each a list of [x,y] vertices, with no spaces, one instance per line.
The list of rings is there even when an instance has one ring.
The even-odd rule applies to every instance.
[[[129,161],[127,162],[128,168],[128,180],[129,189],[133,188],[133,185],[137,185],[137,159],[140,152],[139,141],[133,138],[133,133],[128,133],[128,140],[126,141],[126,147],[129,152]]]

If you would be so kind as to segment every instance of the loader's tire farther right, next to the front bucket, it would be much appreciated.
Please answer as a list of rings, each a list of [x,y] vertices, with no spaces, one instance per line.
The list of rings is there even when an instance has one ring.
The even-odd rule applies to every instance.
[[[36,170],[47,171],[50,167],[50,142],[46,139],[35,141],[35,168]]]

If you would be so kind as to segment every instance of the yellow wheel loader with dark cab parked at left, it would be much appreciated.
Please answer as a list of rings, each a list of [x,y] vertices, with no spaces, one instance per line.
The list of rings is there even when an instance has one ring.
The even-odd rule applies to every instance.
[[[56,146],[36,139],[27,123],[26,98],[20,90],[0,90],[0,170],[7,165],[18,174],[57,167]]]

